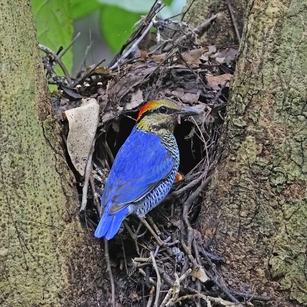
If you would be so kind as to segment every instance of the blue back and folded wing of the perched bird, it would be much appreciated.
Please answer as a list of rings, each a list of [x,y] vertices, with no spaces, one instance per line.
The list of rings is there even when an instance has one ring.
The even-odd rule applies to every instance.
[[[173,165],[173,157],[157,135],[133,131],[116,156],[101,205],[112,203],[109,214],[114,214],[137,202],[168,176]]]

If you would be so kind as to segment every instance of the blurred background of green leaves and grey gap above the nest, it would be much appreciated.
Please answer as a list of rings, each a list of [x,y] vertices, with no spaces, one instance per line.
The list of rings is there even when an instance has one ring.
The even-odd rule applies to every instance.
[[[107,65],[155,0],[32,0],[39,43],[62,56],[74,75],[80,65],[105,59]],[[163,0],[160,18],[180,19],[186,0]]]

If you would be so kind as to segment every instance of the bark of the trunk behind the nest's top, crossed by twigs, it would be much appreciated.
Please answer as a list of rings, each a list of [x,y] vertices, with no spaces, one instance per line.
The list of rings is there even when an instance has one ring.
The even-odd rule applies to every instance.
[[[226,0],[187,1],[183,10],[183,12],[187,11],[184,15],[184,20],[192,28],[199,26],[212,15],[220,13],[220,17],[199,38],[199,42],[203,46],[216,45],[218,47],[227,47],[238,45],[239,41],[235,25],[240,36],[242,34],[248,0],[229,0],[228,3],[229,5]],[[233,19],[230,10],[233,12]]]

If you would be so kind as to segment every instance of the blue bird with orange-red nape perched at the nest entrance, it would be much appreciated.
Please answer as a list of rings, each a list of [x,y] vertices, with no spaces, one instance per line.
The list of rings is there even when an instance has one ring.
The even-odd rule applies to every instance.
[[[173,135],[181,117],[198,115],[168,99],[147,102],[131,134],[119,149],[101,194],[100,218],[94,236],[112,239],[129,214],[141,220],[168,194],[179,168]]]

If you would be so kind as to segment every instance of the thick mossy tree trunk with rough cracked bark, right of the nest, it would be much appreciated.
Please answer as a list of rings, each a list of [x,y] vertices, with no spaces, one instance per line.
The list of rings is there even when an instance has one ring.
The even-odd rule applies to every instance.
[[[307,5],[254,0],[203,234],[232,288],[307,305]]]

